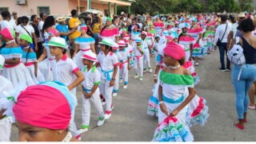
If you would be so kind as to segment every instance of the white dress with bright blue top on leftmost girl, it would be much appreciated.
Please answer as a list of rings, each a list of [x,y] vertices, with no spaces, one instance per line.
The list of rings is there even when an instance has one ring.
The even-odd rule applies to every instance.
[[[26,87],[34,85],[34,80],[30,76],[30,72],[26,66],[22,64],[22,49],[18,48],[2,48],[0,54],[6,59],[20,58],[19,64],[4,64],[2,76],[10,80],[14,84],[14,88],[19,84],[25,84]]]

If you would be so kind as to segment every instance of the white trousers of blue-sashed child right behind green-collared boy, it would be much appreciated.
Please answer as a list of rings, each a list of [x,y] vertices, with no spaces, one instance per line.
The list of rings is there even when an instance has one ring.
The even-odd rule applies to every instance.
[[[110,87],[110,81],[106,79],[101,79],[102,84],[100,84],[100,89],[102,92],[102,95],[106,99],[106,114],[111,113],[111,105],[112,105],[112,91],[113,87]]]

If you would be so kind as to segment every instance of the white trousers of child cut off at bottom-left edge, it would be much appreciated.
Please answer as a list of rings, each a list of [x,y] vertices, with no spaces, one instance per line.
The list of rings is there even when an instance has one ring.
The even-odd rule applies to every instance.
[[[10,117],[0,119],[0,142],[10,142]]]

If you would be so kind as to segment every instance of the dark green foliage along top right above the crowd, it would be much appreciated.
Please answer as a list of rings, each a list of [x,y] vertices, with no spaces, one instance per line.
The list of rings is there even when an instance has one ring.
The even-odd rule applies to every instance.
[[[221,13],[252,10],[252,0],[137,0],[131,6],[134,14]]]

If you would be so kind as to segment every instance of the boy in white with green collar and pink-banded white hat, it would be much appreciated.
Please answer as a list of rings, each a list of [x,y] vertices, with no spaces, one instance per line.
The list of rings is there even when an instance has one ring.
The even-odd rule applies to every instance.
[[[97,126],[102,126],[105,122],[104,111],[102,108],[101,99],[99,98],[100,91],[98,85],[101,84],[101,74],[94,66],[97,61],[96,54],[91,51],[86,52],[81,56],[82,64],[85,67],[82,69],[86,79],[82,82],[82,130],[87,131],[90,124],[90,106],[94,105],[97,115]]]

